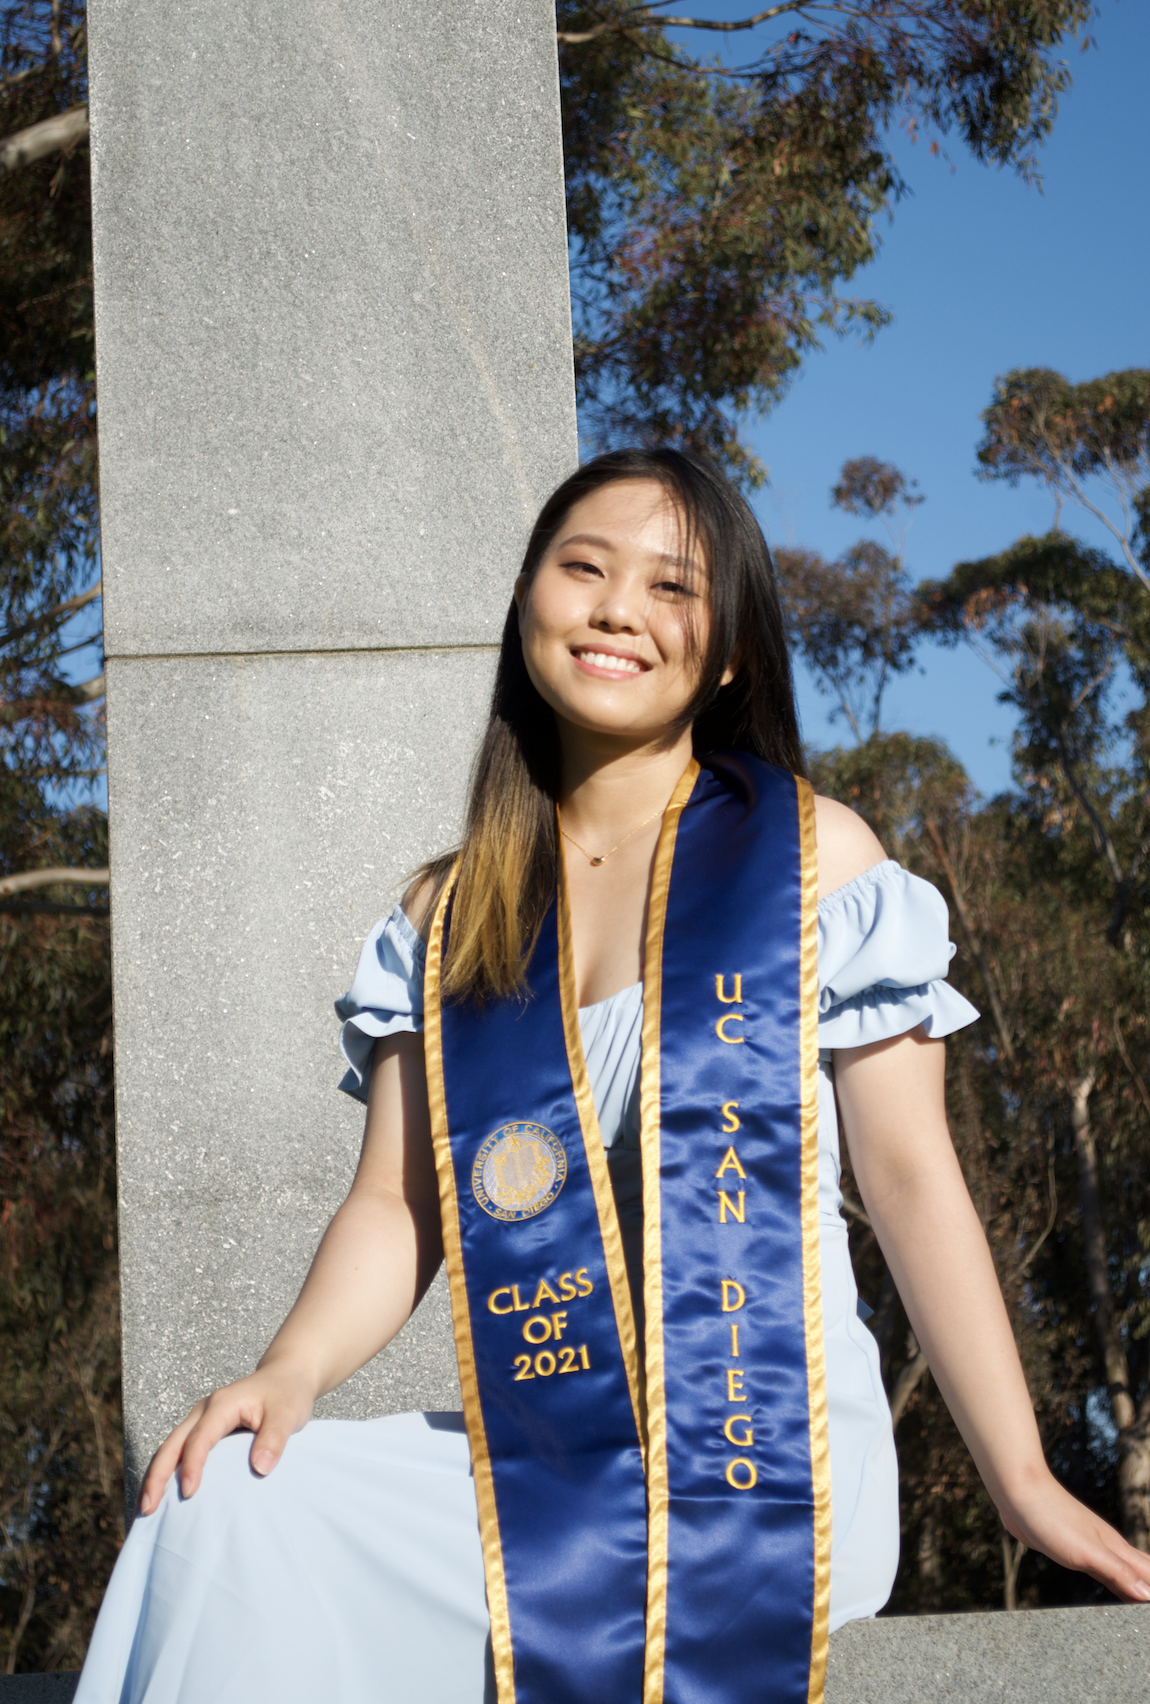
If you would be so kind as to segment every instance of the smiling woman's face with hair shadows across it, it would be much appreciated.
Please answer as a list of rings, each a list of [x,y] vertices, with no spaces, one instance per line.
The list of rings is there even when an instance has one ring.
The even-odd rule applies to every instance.
[[[683,559],[685,532],[663,486],[620,479],[576,503],[516,581],[528,675],[572,728],[658,740],[690,702],[709,576],[699,552]]]

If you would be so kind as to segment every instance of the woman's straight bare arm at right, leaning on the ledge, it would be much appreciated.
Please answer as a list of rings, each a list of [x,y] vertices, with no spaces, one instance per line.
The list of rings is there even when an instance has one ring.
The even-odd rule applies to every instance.
[[[835,1053],[835,1089],[871,1223],[930,1372],[1002,1522],[1126,1602],[1150,1556],[1049,1472],[983,1227],[946,1121],[944,1045],[922,1029]]]

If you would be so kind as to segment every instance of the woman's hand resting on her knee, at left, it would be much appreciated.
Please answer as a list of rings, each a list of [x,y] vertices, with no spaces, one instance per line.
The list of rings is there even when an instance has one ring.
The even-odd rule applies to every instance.
[[[237,1379],[213,1390],[179,1426],[169,1433],[152,1457],[140,1494],[140,1513],[160,1506],[164,1488],[179,1467],[182,1496],[199,1489],[208,1452],[233,1431],[254,1431],[252,1471],[269,1474],[293,1431],[307,1426],[315,1408],[315,1390],[300,1372],[286,1367],[261,1367],[249,1379]]]

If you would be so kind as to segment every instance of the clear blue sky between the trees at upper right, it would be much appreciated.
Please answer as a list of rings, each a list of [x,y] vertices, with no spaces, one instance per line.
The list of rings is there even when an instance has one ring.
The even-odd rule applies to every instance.
[[[731,15],[727,5],[712,15]],[[1102,0],[1097,48],[1068,53],[1073,89],[1041,152],[1041,191],[911,147],[894,152],[911,194],[884,228],[879,259],[843,293],[883,302],[894,322],[869,346],[835,343],[813,356],[782,404],[751,428],[770,467],[756,499],[768,538],[837,554],[859,521],[830,508],[842,462],[877,455],[918,481],[927,501],[908,533],[915,578],[1046,532],[1049,498],[975,477],[980,412],[1012,366],[1053,366],[1080,382],[1148,366],[1150,5]],[[1104,544],[1063,511],[1063,527]],[[883,537],[876,533],[876,537]],[[1009,709],[1000,683],[966,651],[929,648],[922,673],[893,683],[884,724],[937,734],[986,794],[1010,784]],[[806,678],[799,702],[811,745],[848,740]]]

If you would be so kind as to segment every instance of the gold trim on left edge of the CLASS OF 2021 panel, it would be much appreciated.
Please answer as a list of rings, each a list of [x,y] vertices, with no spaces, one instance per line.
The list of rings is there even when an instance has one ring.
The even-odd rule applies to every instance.
[[[463,1278],[463,1244],[460,1237],[460,1212],[455,1193],[455,1166],[446,1121],[446,1091],[443,1085],[443,1026],[440,1007],[440,973],[443,964],[443,918],[455,886],[458,864],[443,884],[428,937],[426,970],[423,982],[423,1046],[428,1072],[428,1108],[431,1111],[431,1142],[434,1169],[440,1179],[440,1215],[443,1218],[443,1259],[451,1290],[451,1326],[455,1329],[455,1358],[463,1392],[463,1416],[472,1452],[475,1503],[479,1506],[479,1537],[484,1547],[484,1576],[487,1581],[487,1612],[491,1615],[491,1655],[496,1670],[499,1704],[515,1704],[515,1661],[511,1651],[511,1615],[508,1610],[508,1583],[503,1569],[503,1540],[499,1539],[499,1513],[496,1510],[496,1484],[484,1430],[484,1411],[479,1402],[479,1373],[472,1343],[472,1319]]]

